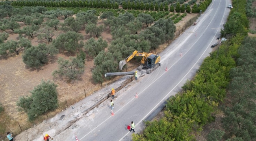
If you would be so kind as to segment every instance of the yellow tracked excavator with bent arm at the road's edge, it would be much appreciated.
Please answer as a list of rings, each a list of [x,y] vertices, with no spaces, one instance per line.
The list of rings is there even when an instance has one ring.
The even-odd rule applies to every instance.
[[[137,67],[137,70],[142,71],[143,69],[147,69],[146,73],[150,74],[152,71],[154,71],[157,67],[159,67],[161,64],[160,62],[160,56],[152,53],[147,52],[140,52],[140,51],[134,51],[132,54],[130,54],[125,60],[122,60],[119,62],[119,69],[122,70],[122,67],[130,61],[132,58],[135,58],[136,56],[141,56],[141,65]]]

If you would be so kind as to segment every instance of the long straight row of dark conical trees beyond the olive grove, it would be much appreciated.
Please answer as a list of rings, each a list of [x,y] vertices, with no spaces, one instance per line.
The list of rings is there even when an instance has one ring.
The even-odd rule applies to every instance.
[[[177,2],[173,5],[169,6],[167,3],[147,3],[144,4],[142,1],[137,2],[130,2],[126,3],[125,1],[122,2],[122,9],[133,9],[133,10],[146,10],[146,11],[174,11],[174,7],[176,12],[182,12],[186,10],[187,7],[190,7],[190,5],[195,4],[196,1],[192,0],[191,3],[188,4],[182,4],[180,8],[180,2]],[[117,2],[114,4],[108,1],[61,1],[61,2],[42,2],[42,1],[14,1],[11,3],[13,6],[44,6],[44,7],[88,7],[88,8],[105,8],[105,9],[119,9],[119,5]],[[202,7],[203,8],[203,7]],[[183,9],[182,11],[180,11]],[[202,9],[201,9],[202,10]],[[198,13],[198,12],[197,12]]]

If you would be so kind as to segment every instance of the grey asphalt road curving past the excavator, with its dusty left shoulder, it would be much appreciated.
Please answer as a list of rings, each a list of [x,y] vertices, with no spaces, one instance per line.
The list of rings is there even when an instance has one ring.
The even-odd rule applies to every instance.
[[[114,116],[111,116],[109,105],[99,105],[98,112],[80,119],[76,124],[83,126],[74,129],[78,139],[131,141],[133,133],[126,129],[127,124],[134,121],[135,133],[142,131],[145,128],[143,120],[195,75],[203,59],[212,51],[210,46],[218,42],[216,39],[230,12],[227,8],[230,3],[230,0],[213,0],[198,18],[197,26],[189,27],[160,54],[161,67],[117,92]],[[135,98],[136,93],[138,98]],[[74,140],[74,136],[65,140]]]

